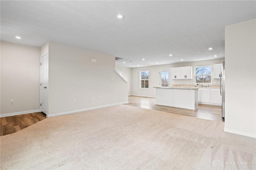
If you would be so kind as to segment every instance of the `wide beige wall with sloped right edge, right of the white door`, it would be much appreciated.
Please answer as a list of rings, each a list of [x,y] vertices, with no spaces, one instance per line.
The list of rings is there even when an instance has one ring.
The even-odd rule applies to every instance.
[[[112,55],[49,42],[48,70],[48,116],[128,102]]]

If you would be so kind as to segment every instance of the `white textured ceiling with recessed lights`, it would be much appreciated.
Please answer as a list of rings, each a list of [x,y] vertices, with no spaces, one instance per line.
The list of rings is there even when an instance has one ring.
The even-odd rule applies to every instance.
[[[124,67],[224,58],[225,26],[256,18],[255,0],[1,0],[0,8],[2,41],[62,43],[122,58]]]

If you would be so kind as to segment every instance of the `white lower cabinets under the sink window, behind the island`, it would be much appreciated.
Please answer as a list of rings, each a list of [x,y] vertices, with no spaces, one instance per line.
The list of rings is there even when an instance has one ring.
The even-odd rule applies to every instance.
[[[220,96],[220,89],[199,88],[198,103],[203,103],[208,105],[222,105],[222,96]]]

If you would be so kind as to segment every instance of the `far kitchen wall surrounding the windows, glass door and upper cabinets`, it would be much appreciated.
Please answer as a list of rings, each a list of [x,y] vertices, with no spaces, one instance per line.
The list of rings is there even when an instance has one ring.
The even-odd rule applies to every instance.
[[[193,79],[181,79],[181,80],[172,80],[172,85],[196,85],[194,83],[194,66],[206,66],[213,64],[220,64],[224,61],[222,59],[212,59],[205,61],[196,61],[196,62],[186,62],[186,63],[175,63],[168,65],[156,65],[149,67],[138,67],[132,68],[132,95],[146,96],[146,97],[156,97],[156,89],[153,87],[159,86],[159,70],[160,69],[170,69],[172,67],[185,67],[193,66]],[[149,88],[140,89],[140,71],[149,70]],[[215,81],[215,84],[213,83]],[[212,79],[212,84],[210,85],[219,85],[219,79]]]

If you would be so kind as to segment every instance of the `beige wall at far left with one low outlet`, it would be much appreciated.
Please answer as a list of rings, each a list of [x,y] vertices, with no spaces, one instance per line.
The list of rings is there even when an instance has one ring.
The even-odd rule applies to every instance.
[[[40,109],[39,56],[39,47],[1,41],[1,116]]]

